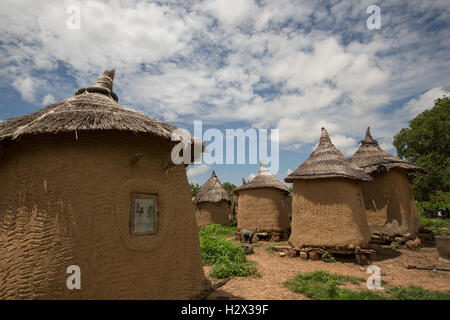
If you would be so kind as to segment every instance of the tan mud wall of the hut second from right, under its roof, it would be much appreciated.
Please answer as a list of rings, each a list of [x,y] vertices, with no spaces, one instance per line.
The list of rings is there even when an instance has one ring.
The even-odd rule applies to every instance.
[[[298,247],[367,246],[370,235],[363,201],[359,183],[347,179],[294,181],[289,241]]]

